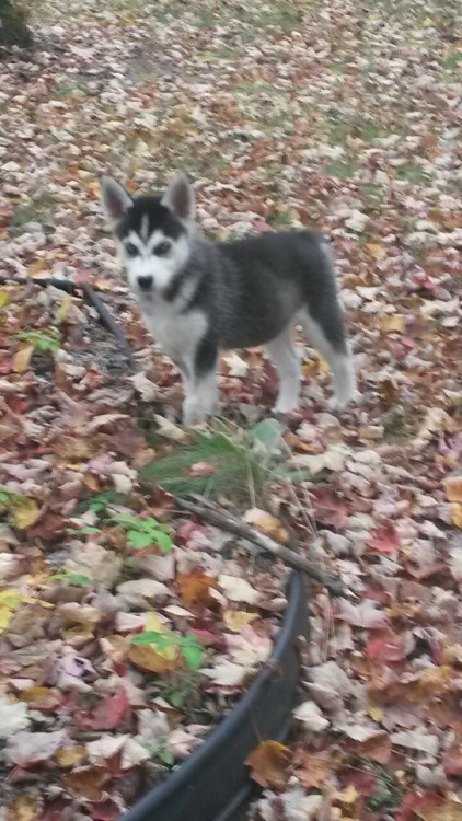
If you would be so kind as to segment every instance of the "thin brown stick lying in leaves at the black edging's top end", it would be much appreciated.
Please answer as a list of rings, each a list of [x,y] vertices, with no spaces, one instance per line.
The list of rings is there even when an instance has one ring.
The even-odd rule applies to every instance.
[[[303,570],[307,576],[324,585],[332,595],[344,595],[345,590],[340,579],[334,574],[323,570],[316,562],[310,562],[288,547],[284,547],[264,533],[254,530],[241,519],[231,516],[227,510],[219,508],[218,505],[213,505],[210,501],[199,505],[195,501],[180,499],[178,497],[175,498],[177,505],[183,510],[188,510],[190,513],[195,513],[195,516],[204,519],[204,521],[209,522],[209,524],[215,524],[222,530],[227,530],[229,533],[246,539],[252,544],[265,551],[265,553],[277,556],[287,565],[290,565],[290,567]]]

